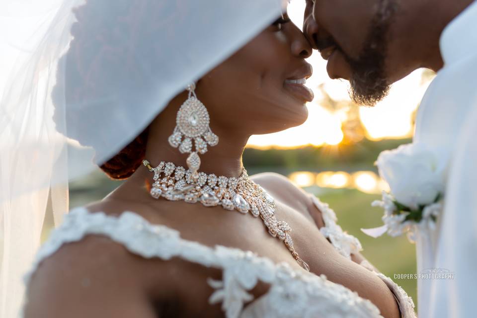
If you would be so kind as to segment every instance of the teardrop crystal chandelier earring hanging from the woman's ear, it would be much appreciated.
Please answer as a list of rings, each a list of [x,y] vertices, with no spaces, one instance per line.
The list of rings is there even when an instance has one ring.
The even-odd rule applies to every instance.
[[[219,137],[210,129],[209,112],[195,94],[195,83],[189,84],[187,90],[189,96],[177,112],[176,126],[168,141],[172,147],[179,148],[182,154],[190,154],[186,163],[195,183],[199,178],[201,163],[198,154],[205,154],[208,145],[217,146]],[[195,151],[192,151],[193,146]]]

